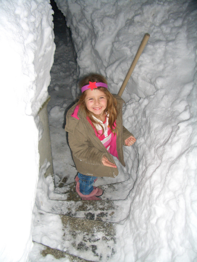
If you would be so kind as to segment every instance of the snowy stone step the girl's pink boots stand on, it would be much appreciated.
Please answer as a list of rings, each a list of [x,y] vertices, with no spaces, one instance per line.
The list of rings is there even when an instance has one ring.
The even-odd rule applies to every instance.
[[[80,196],[76,193],[75,185],[76,183],[73,182],[69,185],[55,188],[50,198],[53,200],[81,200]],[[128,181],[100,185],[98,187],[104,191],[101,196],[102,200],[124,200],[127,198],[129,191],[132,190],[131,184]]]

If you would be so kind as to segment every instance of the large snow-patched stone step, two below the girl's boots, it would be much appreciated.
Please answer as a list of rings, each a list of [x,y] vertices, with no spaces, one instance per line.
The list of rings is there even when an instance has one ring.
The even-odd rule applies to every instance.
[[[76,260],[72,260],[76,262],[107,262],[109,258],[113,258],[117,249],[116,226],[113,223],[65,215],[57,216],[61,217],[63,232],[58,241],[58,251],[48,247],[42,251],[43,255],[52,253],[54,256],[56,254],[62,257],[65,252],[66,255],[78,257]],[[39,239],[43,242],[40,244],[44,245],[45,238],[39,237]],[[80,258],[84,260],[80,260]]]

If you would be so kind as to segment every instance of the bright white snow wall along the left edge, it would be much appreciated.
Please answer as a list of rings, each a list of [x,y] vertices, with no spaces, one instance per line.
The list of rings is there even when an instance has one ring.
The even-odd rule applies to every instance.
[[[27,261],[38,182],[34,117],[48,98],[55,51],[50,1],[0,5],[1,224],[0,261]],[[37,119],[37,123],[39,120]]]

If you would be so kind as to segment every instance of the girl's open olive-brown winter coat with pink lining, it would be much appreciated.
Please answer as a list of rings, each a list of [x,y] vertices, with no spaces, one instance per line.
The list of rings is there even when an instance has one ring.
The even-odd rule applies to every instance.
[[[123,100],[120,96],[114,95],[117,99],[118,117],[116,119],[116,127],[118,135],[116,139],[116,149],[118,159],[125,166],[123,157],[123,145],[126,146],[125,140],[132,134],[122,125],[122,105]],[[72,106],[66,114],[65,130],[68,132],[69,146],[72,151],[72,157],[79,173],[86,176],[96,177],[115,177],[118,175],[118,169],[107,167],[102,164],[102,157],[105,155],[107,159],[115,163],[112,155],[107,151],[95,135],[95,131],[86,119],[85,111],[79,107],[77,118],[72,117],[77,104]]]

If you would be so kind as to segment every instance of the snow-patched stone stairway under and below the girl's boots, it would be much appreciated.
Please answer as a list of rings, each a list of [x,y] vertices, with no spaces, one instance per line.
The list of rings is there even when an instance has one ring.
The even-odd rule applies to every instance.
[[[43,203],[39,211],[44,212],[45,216],[54,214],[60,217],[63,231],[61,244],[59,249],[54,249],[45,246],[42,241],[34,241],[34,248],[39,249],[43,257],[50,254],[58,260],[66,258],[73,262],[116,261],[113,259],[117,244],[119,245],[116,224],[126,219],[128,214],[125,210],[130,203],[125,199],[126,193],[122,194],[123,190],[120,188],[127,189],[124,192],[128,194],[127,187],[128,181],[100,186],[104,190],[102,200],[89,201],[81,200],[76,193],[75,182],[55,188],[50,194],[51,199],[46,205]],[[111,199],[111,195],[116,195],[117,199]],[[51,258],[47,261],[53,260]]]

